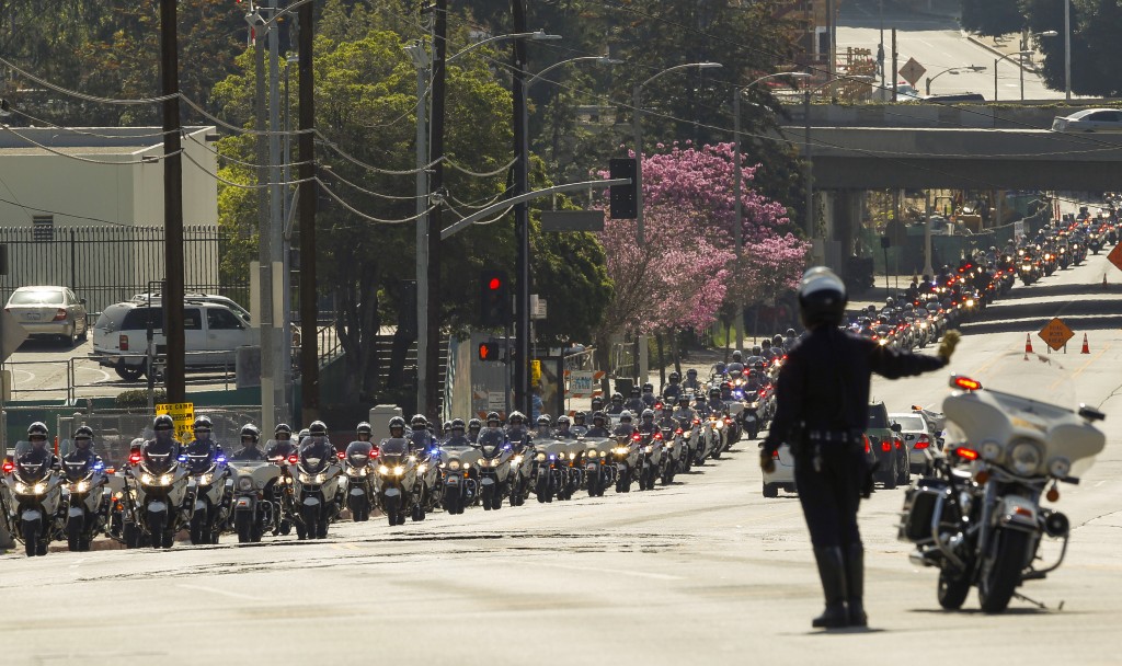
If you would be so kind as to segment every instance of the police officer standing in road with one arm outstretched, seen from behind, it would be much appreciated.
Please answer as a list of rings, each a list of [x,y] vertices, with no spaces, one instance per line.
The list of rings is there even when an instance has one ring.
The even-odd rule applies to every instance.
[[[810,528],[826,611],[813,627],[864,627],[864,548],[857,506],[867,497],[870,470],[863,450],[873,372],[896,379],[947,364],[958,332],[950,331],[938,357],[900,352],[838,330],[845,284],[811,268],[799,284],[799,315],[809,331],[788,355],[776,386],[778,410],[761,445],[760,466],[774,471],[773,452],[787,442],[794,454],[794,481]]]

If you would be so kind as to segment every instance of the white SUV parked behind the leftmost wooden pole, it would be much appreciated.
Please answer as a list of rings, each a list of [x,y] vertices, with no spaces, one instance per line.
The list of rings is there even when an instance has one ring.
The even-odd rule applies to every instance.
[[[188,298],[183,321],[188,370],[232,369],[238,348],[256,343],[249,322],[223,303]],[[158,359],[167,344],[163,307],[157,302],[136,300],[110,305],[93,326],[91,355],[99,364],[113,368],[121,379],[135,381],[149,370],[145,358],[149,326]]]

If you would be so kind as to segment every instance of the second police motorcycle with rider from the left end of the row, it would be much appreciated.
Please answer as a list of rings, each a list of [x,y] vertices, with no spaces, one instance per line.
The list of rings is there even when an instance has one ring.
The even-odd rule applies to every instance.
[[[109,477],[105,463],[93,454],[93,431],[80,426],[74,450],[63,456],[63,508],[66,510],[66,545],[89,551],[93,537],[104,531],[109,517]],[[62,510],[62,509],[61,509]]]

